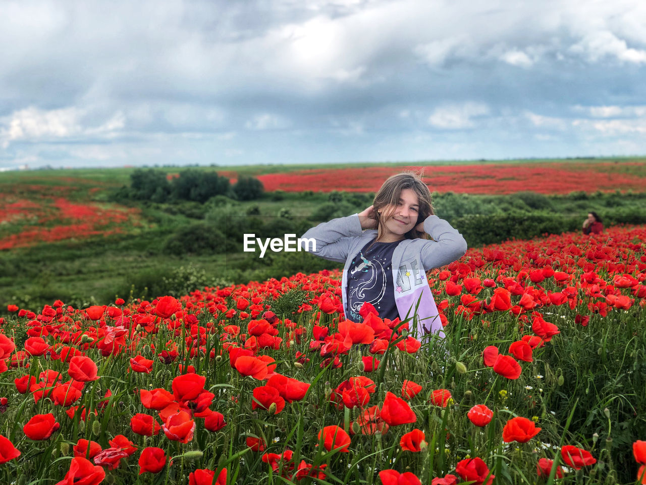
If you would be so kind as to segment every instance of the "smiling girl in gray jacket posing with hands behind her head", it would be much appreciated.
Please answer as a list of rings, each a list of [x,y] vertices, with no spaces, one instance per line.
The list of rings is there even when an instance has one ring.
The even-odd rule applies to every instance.
[[[381,318],[409,318],[418,336],[444,337],[426,271],[462,257],[466,241],[433,215],[430,191],[417,175],[393,175],[369,208],[318,224],[302,238],[315,239],[312,253],[345,263],[346,318],[361,321],[359,309],[367,301]]]

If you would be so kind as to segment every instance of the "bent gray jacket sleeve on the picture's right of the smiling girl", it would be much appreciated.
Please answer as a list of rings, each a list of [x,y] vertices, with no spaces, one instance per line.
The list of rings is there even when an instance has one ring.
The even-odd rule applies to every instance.
[[[424,241],[422,246],[424,270],[432,270],[457,261],[466,253],[466,241],[461,233],[437,215],[430,215],[424,220],[424,232],[434,239]]]

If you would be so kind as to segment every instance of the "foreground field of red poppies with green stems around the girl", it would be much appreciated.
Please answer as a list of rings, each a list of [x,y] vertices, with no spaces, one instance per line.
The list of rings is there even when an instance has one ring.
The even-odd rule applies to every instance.
[[[443,342],[368,307],[344,319],[328,271],[10,305],[0,482],[634,483],[645,238],[615,227],[470,249],[428,274]]]

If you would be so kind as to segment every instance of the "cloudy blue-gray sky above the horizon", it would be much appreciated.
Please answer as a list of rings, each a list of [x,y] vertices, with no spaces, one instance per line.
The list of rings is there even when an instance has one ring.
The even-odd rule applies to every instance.
[[[641,0],[0,3],[0,168],[646,153]]]

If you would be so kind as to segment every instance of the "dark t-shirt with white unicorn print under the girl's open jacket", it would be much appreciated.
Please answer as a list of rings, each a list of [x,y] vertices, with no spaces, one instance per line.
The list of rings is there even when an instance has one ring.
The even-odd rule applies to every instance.
[[[348,319],[362,321],[359,310],[366,301],[377,309],[380,318],[399,317],[391,265],[400,242],[371,241],[355,256],[348,269]]]

